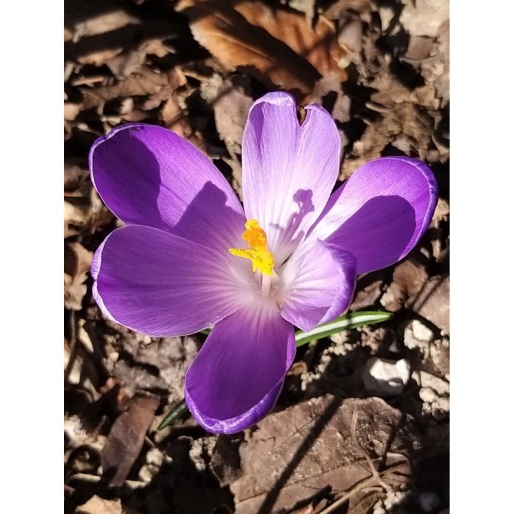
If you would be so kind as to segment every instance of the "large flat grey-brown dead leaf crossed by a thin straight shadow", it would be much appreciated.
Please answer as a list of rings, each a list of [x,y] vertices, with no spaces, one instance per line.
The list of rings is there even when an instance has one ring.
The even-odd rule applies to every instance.
[[[217,445],[213,469],[222,484],[230,484],[235,514],[296,508],[327,486],[334,495],[344,494],[371,476],[362,449],[375,464],[384,458],[386,467],[399,466],[396,485],[408,481],[410,465],[397,455],[406,449],[406,429],[398,431],[402,413],[379,398],[341,401],[326,395],[268,415],[238,449],[240,464],[223,453],[230,447]],[[362,449],[351,435],[355,412]],[[388,482],[387,473],[382,479]],[[358,503],[366,489],[356,492]]]

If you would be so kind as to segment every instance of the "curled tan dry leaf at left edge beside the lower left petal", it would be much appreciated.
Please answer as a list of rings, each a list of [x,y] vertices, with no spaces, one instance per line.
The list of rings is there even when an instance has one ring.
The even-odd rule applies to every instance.
[[[84,284],[86,273],[91,267],[93,252],[86,250],[80,243],[64,245],[64,306],[80,310],[87,287]]]

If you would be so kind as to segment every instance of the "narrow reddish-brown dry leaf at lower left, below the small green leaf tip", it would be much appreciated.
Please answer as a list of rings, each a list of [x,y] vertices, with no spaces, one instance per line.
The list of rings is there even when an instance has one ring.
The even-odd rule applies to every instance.
[[[111,484],[121,485],[127,478],[158,406],[156,396],[132,398],[127,411],[114,422],[101,454],[103,474]]]

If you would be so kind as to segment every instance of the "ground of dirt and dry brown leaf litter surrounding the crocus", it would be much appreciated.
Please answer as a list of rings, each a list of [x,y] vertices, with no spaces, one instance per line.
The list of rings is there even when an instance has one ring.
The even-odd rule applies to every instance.
[[[447,512],[447,0],[69,0],[64,25],[65,511]],[[206,336],[150,338],[100,314],[88,269],[120,222],[89,148],[122,123],[166,126],[241,197],[248,109],[277,89],[331,112],[340,180],[379,156],[427,162],[434,218],[406,259],[358,279],[351,310],[393,318],[299,348],[262,423],[215,436],[186,415],[159,432]]]

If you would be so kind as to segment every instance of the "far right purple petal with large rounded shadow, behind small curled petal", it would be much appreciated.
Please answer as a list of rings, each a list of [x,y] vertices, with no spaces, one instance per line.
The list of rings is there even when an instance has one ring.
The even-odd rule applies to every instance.
[[[409,157],[381,157],[357,171],[328,200],[310,237],[352,253],[357,273],[399,261],[428,228],[437,182],[428,166]]]

